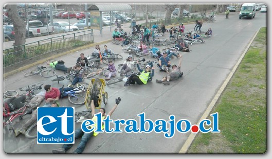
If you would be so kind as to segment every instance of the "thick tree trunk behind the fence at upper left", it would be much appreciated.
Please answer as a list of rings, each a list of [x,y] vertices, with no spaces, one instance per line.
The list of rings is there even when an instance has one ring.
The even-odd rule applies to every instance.
[[[26,43],[26,23],[20,18],[17,12],[17,5],[6,5],[7,12],[13,23],[15,32],[14,46],[24,45]],[[20,50],[20,47],[15,47],[15,51]]]

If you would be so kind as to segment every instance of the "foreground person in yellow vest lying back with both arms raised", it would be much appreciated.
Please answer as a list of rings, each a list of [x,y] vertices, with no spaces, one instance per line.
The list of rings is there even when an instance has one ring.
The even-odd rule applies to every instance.
[[[113,112],[115,111],[115,109],[117,108],[118,104],[121,102],[121,98],[118,97],[115,99],[115,106],[112,108],[112,110],[110,112],[108,112],[107,115],[112,116]],[[97,121],[97,116],[95,115],[95,104],[94,104],[94,100],[92,97],[92,103],[90,104],[91,109],[92,109],[92,120],[93,121]],[[100,108],[98,110],[98,113],[102,114],[102,120],[106,117],[106,111],[104,108]],[[96,124],[94,125],[96,126]],[[102,126],[102,128],[104,128],[104,125]],[[81,141],[77,147],[77,149],[73,152],[73,153],[82,153],[89,138],[91,136],[96,136],[98,135],[97,132],[90,132],[90,133],[84,133],[83,130],[81,129],[81,127],[77,130],[75,130],[75,140],[81,137]],[[63,144],[63,146],[61,148],[58,149],[53,149],[52,153],[66,153],[66,151],[71,148],[74,144]]]

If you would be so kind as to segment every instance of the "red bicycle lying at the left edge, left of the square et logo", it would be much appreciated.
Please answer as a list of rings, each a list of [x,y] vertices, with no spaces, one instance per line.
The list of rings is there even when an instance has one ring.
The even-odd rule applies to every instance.
[[[14,128],[11,126],[15,118],[19,117],[19,119],[22,120],[24,118],[24,115],[31,114],[32,109],[37,108],[37,106],[37,104],[26,104],[22,108],[19,108],[17,111],[7,113],[7,115],[10,117],[8,118],[8,120],[3,122],[3,125],[8,126],[9,131],[12,130],[13,133],[15,133]]]

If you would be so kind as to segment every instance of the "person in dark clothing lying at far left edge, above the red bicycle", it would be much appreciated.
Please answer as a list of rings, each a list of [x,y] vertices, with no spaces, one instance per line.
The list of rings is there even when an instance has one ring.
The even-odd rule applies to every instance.
[[[22,108],[26,104],[25,95],[17,95],[12,98],[9,98],[3,103],[3,116],[8,117],[8,113],[11,113],[15,109]]]

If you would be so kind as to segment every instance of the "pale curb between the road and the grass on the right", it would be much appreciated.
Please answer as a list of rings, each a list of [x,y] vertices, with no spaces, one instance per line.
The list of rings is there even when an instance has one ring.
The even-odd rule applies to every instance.
[[[216,104],[217,100],[219,100],[219,97],[221,96],[222,92],[224,91],[224,89],[226,88],[227,84],[229,83],[230,79],[232,78],[234,72],[237,70],[238,66],[240,65],[242,59],[244,58],[246,52],[248,51],[249,47],[251,46],[253,40],[255,39],[255,37],[257,36],[258,32],[260,31],[261,28],[259,28],[259,30],[255,33],[255,35],[252,37],[251,41],[249,42],[249,44],[247,45],[246,49],[244,50],[243,54],[241,55],[241,57],[239,58],[238,62],[235,64],[235,66],[233,67],[233,69],[231,70],[231,72],[229,73],[228,77],[226,78],[225,82],[223,83],[223,85],[221,86],[221,88],[217,91],[217,93],[215,94],[215,96],[213,97],[211,103],[209,104],[208,108],[205,110],[205,112],[203,113],[203,115],[201,116],[200,120],[197,122],[197,125],[204,119],[206,119],[211,110],[213,109],[214,105]],[[191,133],[189,135],[189,137],[187,138],[187,140],[185,141],[183,147],[179,150],[178,153],[187,153],[189,147],[191,146],[192,142],[194,141],[194,137],[196,136],[197,133]]]

